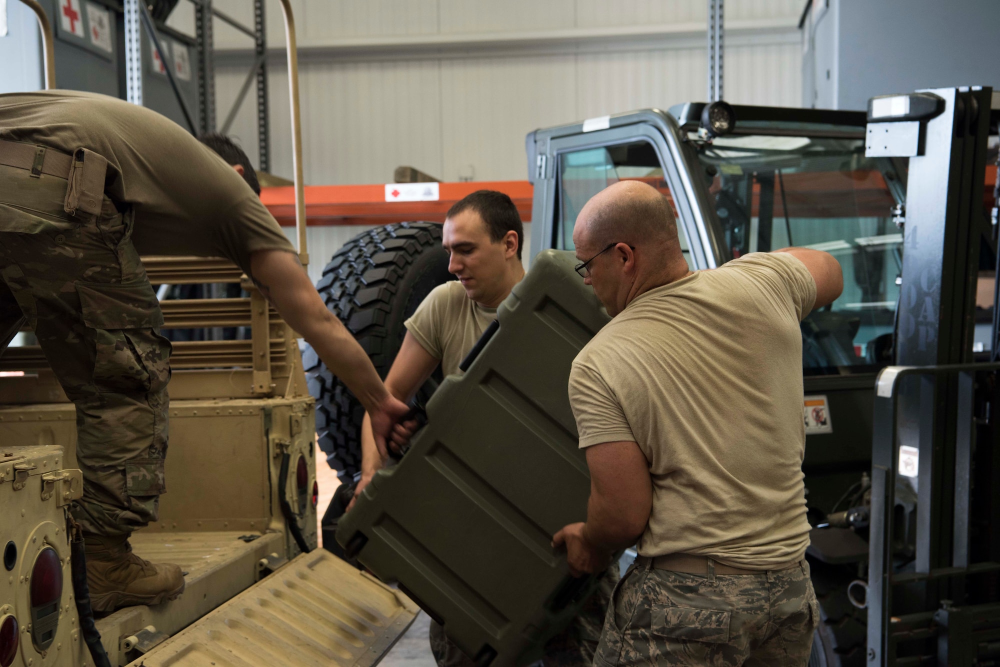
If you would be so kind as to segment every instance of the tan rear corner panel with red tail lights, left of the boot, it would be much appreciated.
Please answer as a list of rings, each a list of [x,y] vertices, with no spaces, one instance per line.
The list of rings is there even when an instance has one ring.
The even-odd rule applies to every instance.
[[[64,510],[83,476],[65,463],[59,446],[0,444],[0,657],[13,655],[4,664],[77,666],[87,652]]]

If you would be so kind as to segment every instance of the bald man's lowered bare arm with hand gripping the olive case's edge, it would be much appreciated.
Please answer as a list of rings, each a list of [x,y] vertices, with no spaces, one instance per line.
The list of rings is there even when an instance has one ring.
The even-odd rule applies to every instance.
[[[653,509],[649,462],[632,441],[603,442],[587,447],[590,500],[587,521],[571,523],[553,537],[566,545],[570,572],[597,572],[619,549],[635,544]]]

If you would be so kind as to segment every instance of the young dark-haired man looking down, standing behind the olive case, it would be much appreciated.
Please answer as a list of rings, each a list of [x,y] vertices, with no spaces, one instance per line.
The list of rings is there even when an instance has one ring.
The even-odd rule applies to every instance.
[[[448,271],[458,280],[435,288],[406,321],[407,333],[385,384],[408,401],[441,364],[445,375],[461,373],[458,365],[479,337],[496,320],[497,307],[524,278],[521,264],[523,228],[517,208],[503,193],[480,190],[451,208],[444,223],[442,245],[450,255]],[[397,424],[389,446],[409,441],[410,424]],[[376,447],[368,417],[361,430],[362,472],[355,498],[386,464],[387,453]],[[353,501],[352,501],[353,503]],[[590,665],[617,571],[605,576],[601,592],[545,649],[547,665]],[[474,667],[437,623],[431,624],[431,650],[441,667]]]

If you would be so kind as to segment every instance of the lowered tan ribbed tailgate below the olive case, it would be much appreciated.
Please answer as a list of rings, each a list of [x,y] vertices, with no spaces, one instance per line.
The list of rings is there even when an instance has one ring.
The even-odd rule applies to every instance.
[[[402,593],[317,549],[130,664],[369,667],[418,612]]]

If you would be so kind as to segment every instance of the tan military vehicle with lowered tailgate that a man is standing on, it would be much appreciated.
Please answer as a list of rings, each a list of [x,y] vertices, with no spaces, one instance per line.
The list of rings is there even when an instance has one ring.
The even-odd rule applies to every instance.
[[[33,0],[51,56],[51,29]],[[299,251],[306,260],[295,33],[289,43]],[[47,83],[54,85],[51,57]],[[0,353],[0,665],[371,665],[418,611],[316,550],[313,398],[297,335],[228,261],[144,258],[154,285],[228,284],[242,298],[164,301],[165,328],[247,328],[174,343],[169,492],[136,553],[174,562],[176,600],[96,619],[67,513],[80,497],[75,408],[37,345]],[[18,332],[0,332],[6,346]],[[30,332],[25,332],[30,334]],[[206,336],[207,337],[207,336]]]

